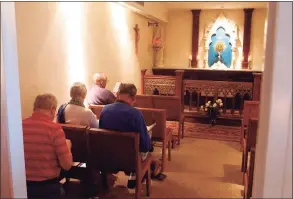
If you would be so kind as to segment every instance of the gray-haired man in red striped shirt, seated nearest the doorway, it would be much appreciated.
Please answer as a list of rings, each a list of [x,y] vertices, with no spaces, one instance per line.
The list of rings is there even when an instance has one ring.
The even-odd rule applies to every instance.
[[[32,116],[22,121],[28,198],[60,198],[61,168],[72,165],[71,142],[53,122],[56,108],[54,95],[38,95]]]

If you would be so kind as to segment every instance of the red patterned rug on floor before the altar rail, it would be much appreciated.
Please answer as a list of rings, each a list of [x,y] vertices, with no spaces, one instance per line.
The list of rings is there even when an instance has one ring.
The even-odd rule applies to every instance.
[[[167,126],[177,128],[177,124],[174,122],[168,122]],[[241,127],[238,126],[215,125],[210,127],[208,124],[184,122],[184,137],[239,142],[240,129]]]

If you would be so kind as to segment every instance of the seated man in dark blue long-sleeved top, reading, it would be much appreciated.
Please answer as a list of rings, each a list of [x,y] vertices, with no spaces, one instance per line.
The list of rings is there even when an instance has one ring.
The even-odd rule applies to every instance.
[[[140,134],[139,148],[142,157],[146,158],[147,153],[153,151],[150,136],[142,113],[133,107],[135,103],[137,89],[134,84],[121,84],[117,93],[117,101],[113,104],[106,105],[100,116],[100,128],[121,131],[121,132],[138,132]],[[152,171],[153,175],[158,176],[158,162],[154,161]],[[162,176],[163,174],[160,174]],[[134,174],[130,175],[128,188],[135,187]]]

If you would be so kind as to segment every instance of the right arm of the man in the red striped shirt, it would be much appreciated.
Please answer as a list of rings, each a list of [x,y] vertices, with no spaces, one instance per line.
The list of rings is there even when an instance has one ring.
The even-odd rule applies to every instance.
[[[67,144],[65,139],[65,133],[61,127],[56,131],[56,134],[54,135],[53,144],[60,166],[62,167],[62,169],[68,171],[72,166],[72,154],[69,149],[69,147],[71,147],[71,143]]]

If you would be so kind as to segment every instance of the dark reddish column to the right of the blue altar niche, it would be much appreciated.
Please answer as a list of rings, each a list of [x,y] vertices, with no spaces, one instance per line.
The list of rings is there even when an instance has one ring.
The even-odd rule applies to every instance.
[[[253,8],[243,9],[244,11],[244,34],[243,34],[243,60],[242,68],[248,68],[248,54],[250,51],[250,37],[251,37],[251,19]]]

